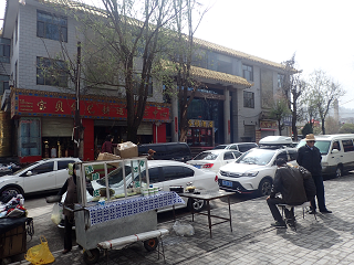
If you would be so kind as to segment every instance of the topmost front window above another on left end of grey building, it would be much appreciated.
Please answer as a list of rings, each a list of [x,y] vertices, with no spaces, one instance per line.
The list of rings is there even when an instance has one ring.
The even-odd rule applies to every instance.
[[[37,36],[67,42],[67,19],[37,11]]]

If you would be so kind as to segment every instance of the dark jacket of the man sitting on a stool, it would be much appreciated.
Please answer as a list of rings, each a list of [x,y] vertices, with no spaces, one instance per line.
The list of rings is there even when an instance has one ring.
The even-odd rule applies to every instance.
[[[277,169],[273,189],[270,198],[274,198],[278,192],[281,193],[283,201],[290,205],[300,205],[308,201],[305,188],[303,184],[304,178],[299,169],[282,166]]]

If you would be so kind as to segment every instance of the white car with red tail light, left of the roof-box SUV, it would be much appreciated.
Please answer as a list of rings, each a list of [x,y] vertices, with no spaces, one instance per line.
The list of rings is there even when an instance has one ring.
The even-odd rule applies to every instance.
[[[230,149],[208,150],[198,153],[192,160],[187,161],[187,163],[217,173],[220,167],[235,162],[241,155],[241,152]]]

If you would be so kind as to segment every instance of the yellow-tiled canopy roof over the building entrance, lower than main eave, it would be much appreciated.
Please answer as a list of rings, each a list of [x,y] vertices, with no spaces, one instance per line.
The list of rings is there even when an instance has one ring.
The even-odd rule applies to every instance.
[[[237,76],[237,75],[225,74],[221,72],[216,72],[216,71],[211,71],[211,70],[207,70],[207,68],[197,67],[197,66],[190,66],[190,72],[191,72],[191,75],[195,77],[214,80],[214,81],[240,85],[240,86],[244,86],[244,87],[252,86],[252,84],[248,83],[247,80],[244,80],[240,76]]]

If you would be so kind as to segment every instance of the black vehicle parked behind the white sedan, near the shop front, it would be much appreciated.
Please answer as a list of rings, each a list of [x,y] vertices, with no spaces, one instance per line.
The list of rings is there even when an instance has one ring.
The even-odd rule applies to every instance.
[[[176,160],[186,162],[192,158],[189,146],[186,142],[160,142],[138,146],[139,156],[147,156],[148,149],[156,151],[154,159]]]

